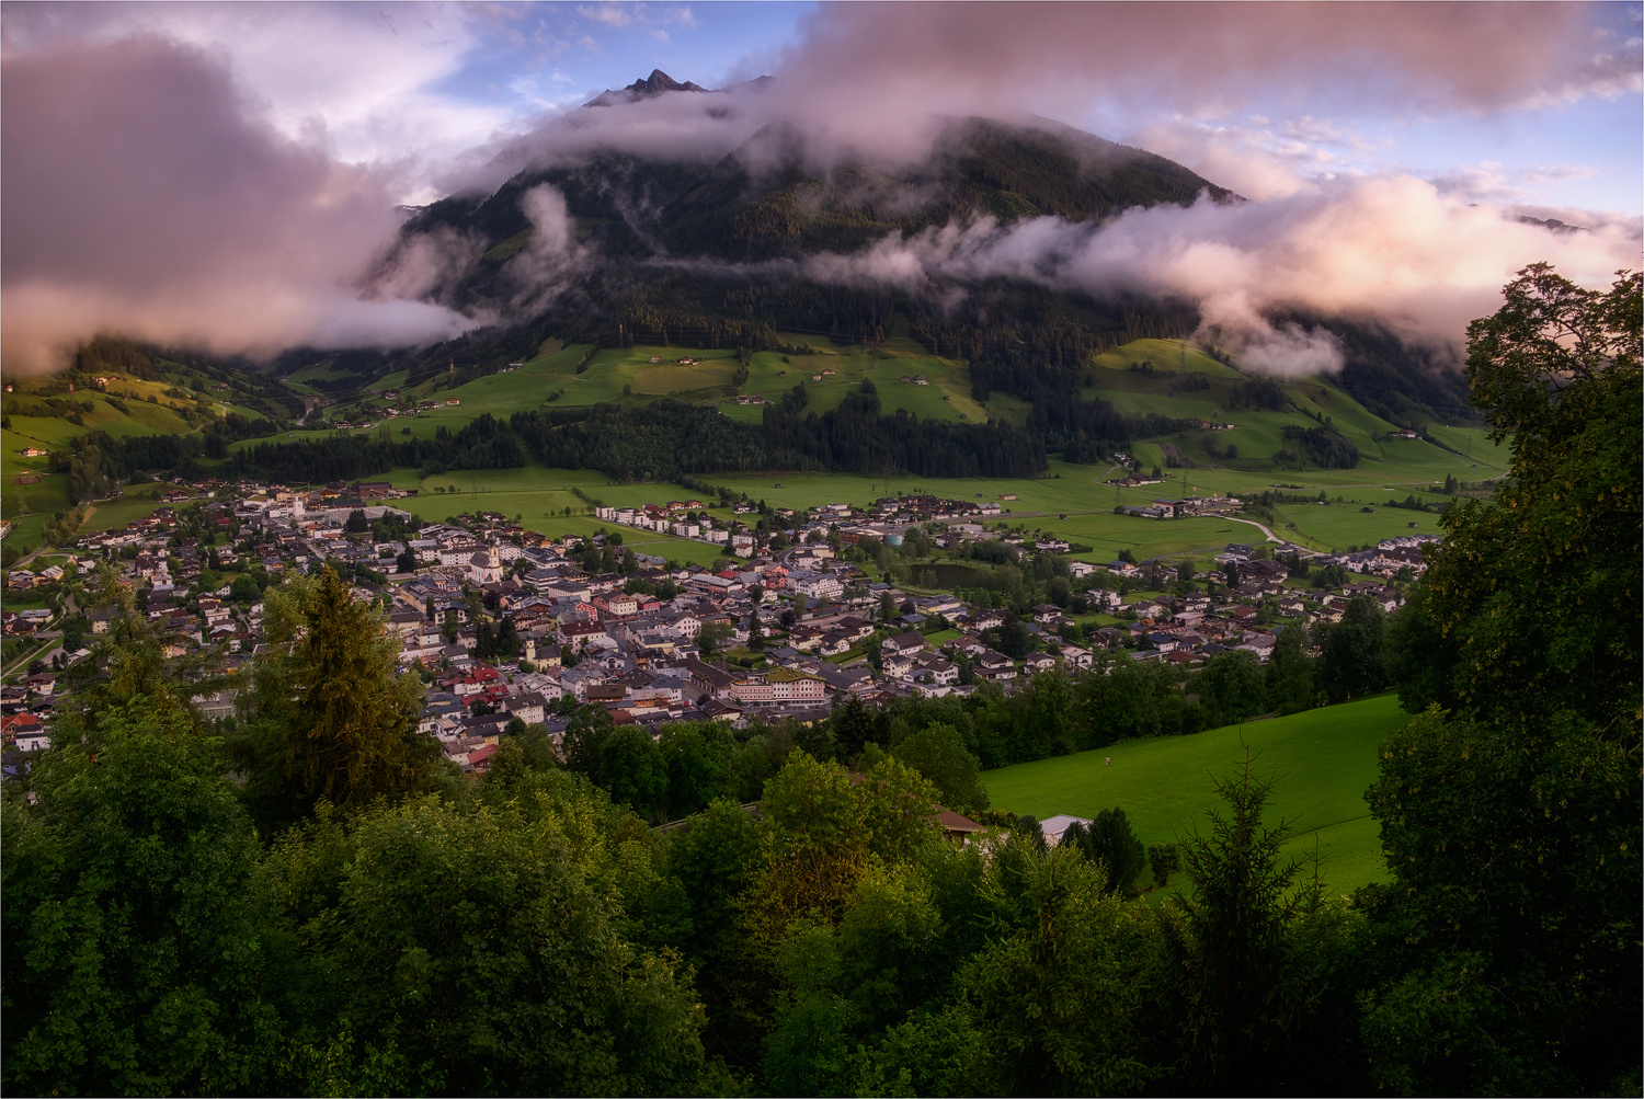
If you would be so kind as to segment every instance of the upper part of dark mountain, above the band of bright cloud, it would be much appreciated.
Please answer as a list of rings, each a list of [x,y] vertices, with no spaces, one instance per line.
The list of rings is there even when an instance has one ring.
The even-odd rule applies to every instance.
[[[653,82],[664,90],[700,90],[654,72],[621,92],[605,92],[590,107],[613,95],[663,94],[635,90]],[[896,171],[842,164],[829,172],[804,166],[801,135],[771,125],[712,164],[600,151],[572,166],[524,171],[495,194],[436,202],[408,220],[403,232],[408,238],[442,228],[475,233],[500,268],[529,238],[531,220],[521,199],[543,184],[564,194],[579,238],[613,260],[796,260],[815,251],[855,251],[886,233],[955,218],[991,215],[1014,222],[1055,214],[1070,222],[1098,222],[1128,207],[1189,205],[1202,192],[1238,200],[1162,156],[1049,120],[1016,126],[955,118],[919,164]],[[469,289],[485,281],[482,269]],[[465,304],[460,292],[455,301]]]

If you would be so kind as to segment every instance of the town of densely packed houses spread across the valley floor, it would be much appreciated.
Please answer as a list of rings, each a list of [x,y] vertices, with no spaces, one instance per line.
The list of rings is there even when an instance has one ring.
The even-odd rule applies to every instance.
[[[79,539],[59,563],[13,568],[8,593],[66,591],[107,560],[169,639],[168,655],[210,651],[233,675],[266,647],[266,586],[288,570],[330,565],[381,609],[403,674],[424,682],[421,731],[459,767],[483,772],[510,723],[543,724],[557,738],[589,703],[653,731],[704,720],[745,728],[814,723],[843,697],[876,705],[985,683],[1009,692],[1026,677],[1077,674],[1120,651],[1184,677],[1226,651],[1264,662],[1284,629],[1338,621],[1355,596],[1396,609],[1396,582],[1424,570],[1422,545],[1435,540],[1397,537],[1353,554],[1230,544],[1215,568],[1185,575],[1169,562],[1072,560],[1065,540],[990,529],[998,501],[898,496],[769,516],[743,504],[727,521],[710,517],[704,501],[671,499],[597,508],[613,529],[556,540],[495,513],[419,524],[391,504],[399,494],[386,483],[178,485],[151,516]],[[621,527],[705,540],[725,557],[713,568],[636,554],[623,549]],[[942,550],[1000,542],[1024,559],[1049,557],[1069,598],[1019,614],[996,596],[891,583],[875,552],[909,536]],[[1335,567],[1338,583],[1299,585],[1287,554],[1318,575]],[[207,585],[224,573],[237,577]],[[1148,595],[1149,585],[1167,591]],[[72,596],[59,609],[3,613],[8,642],[41,642],[0,688],[13,774],[49,746],[58,674],[92,655],[113,611],[84,613],[84,628],[74,626],[79,616]],[[235,697],[229,688],[194,701],[224,720],[235,716]]]

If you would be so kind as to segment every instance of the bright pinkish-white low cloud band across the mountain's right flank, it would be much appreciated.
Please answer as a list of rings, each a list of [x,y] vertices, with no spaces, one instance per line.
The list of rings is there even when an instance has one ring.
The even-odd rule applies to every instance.
[[[1192,301],[1205,338],[1274,373],[1342,365],[1333,337],[1272,317],[1374,320],[1435,348],[1460,347],[1503,283],[1545,260],[1605,284],[1637,264],[1637,218],[1552,233],[1499,205],[1468,205],[1411,176],[1314,182],[1264,204],[1133,209],[1100,227],[1057,217],[991,218],[889,235],[857,255],[822,255],[810,278],[894,286],[957,304],[967,284],[1028,279],[1062,291],[1139,291]]]

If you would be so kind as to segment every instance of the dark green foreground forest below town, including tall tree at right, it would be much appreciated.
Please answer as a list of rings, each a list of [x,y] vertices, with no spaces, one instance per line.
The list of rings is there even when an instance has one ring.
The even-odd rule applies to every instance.
[[[1366,792],[1384,884],[1340,895],[1328,864],[1282,856],[1286,784],[1259,759],[1207,777],[1220,808],[1151,902],[1121,816],[1051,846],[981,803],[985,757],[1189,734],[1126,718],[1172,692],[1123,662],[1106,685],[847,703],[745,741],[651,741],[584,708],[564,761],[518,728],[472,779],[416,733],[421,687],[388,674],[396,642],[334,573],[265,593],[271,644],[232,724],[199,718],[209,669],[169,660],[104,573],[97,665],[0,787],[0,1079],[1637,1092],[1639,291],[1522,271],[1470,329],[1473,399],[1512,448],[1501,498],[1447,513],[1406,609],[1360,611],[1312,678],[1245,662],[1197,683],[1218,716],[1397,690],[1412,720]],[[995,831],[952,843],[937,805]]]

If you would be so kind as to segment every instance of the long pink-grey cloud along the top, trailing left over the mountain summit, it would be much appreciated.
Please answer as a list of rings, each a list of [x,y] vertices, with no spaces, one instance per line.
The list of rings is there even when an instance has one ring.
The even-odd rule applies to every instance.
[[[1266,197],[1365,151],[1337,117],[1366,105],[1481,113],[1616,94],[1616,56],[1637,51],[1601,44],[1609,53],[1598,56],[1586,10],[1567,3],[825,5],[769,82],[554,115],[477,151],[446,182],[483,189],[602,145],[718,158],[771,123],[802,133],[824,164],[904,163],[924,156],[942,118],[1095,112],[1131,118],[1123,128],[1144,126],[1138,143],[1167,156],[1197,146],[1190,164]],[[1200,125],[1187,120],[1225,118],[1246,102],[1289,102],[1294,117],[1187,133]]]

